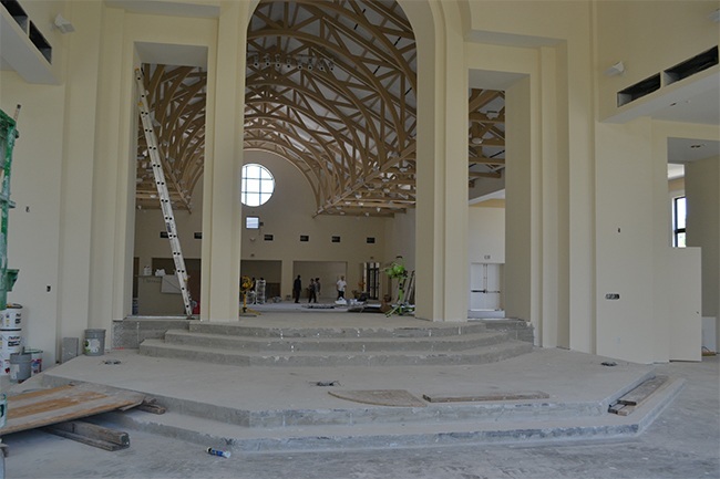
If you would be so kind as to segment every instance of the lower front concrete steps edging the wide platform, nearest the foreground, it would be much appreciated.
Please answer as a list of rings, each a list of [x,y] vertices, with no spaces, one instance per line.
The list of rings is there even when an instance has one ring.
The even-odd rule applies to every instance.
[[[177,412],[109,413],[92,420],[233,451],[304,451],[408,448],[471,444],[627,438],[640,434],[679,393],[669,379],[630,416],[607,413],[603,404],[507,402],[425,408],[368,407],[364,410],[256,413],[251,424]],[[210,408],[212,409],[212,408]],[[205,416],[210,413],[205,409]],[[444,410],[443,410],[444,409]],[[246,412],[247,413],[247,412]],[[249,419],[253,414],[229,417]],[[284,421],[279,418],[284,417]]]

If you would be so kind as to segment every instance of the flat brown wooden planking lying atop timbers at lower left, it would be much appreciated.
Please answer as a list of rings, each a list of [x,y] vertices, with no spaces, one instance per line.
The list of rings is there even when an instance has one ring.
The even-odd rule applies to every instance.
[[[138,405],[143,398],[140,393],[88,383],[19,394],[8,398],[8,420],[0,436]]]

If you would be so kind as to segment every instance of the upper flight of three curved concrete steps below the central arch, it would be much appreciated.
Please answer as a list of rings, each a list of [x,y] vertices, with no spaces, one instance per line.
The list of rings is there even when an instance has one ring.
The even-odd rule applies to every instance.
[[[146,339],[140,353],[237,366],[462,365],[506,360],[529,342],[483,323],[426,327],[257,327],[193,321]]]

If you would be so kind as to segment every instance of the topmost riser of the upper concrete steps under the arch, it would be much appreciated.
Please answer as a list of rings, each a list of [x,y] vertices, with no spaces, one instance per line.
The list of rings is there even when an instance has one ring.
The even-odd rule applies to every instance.
[[[322,337],[322,339],[418,339],[418,337],[444,337],[457,336],[463,334],[474,334],[486,332],[485,324],[463,324],[456,327],[399,327],[399,329],[270,329],[270,327],[249,327],[236,324],[213,324],[191,322],[189,331],[192,333],[203,334],[223,334],[247,337],[276,337],[276,339],[299,339],[299,337]]]

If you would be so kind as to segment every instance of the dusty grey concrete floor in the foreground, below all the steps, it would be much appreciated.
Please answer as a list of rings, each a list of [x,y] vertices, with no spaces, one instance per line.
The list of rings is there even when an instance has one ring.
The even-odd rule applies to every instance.
[[[209,456],[202,446],[131,431],[109,452],[41,431],[7,436],[8,478],[473,479],[720,478],[718,357],[657,366],[685,377],[639,437],[606,441]]]

